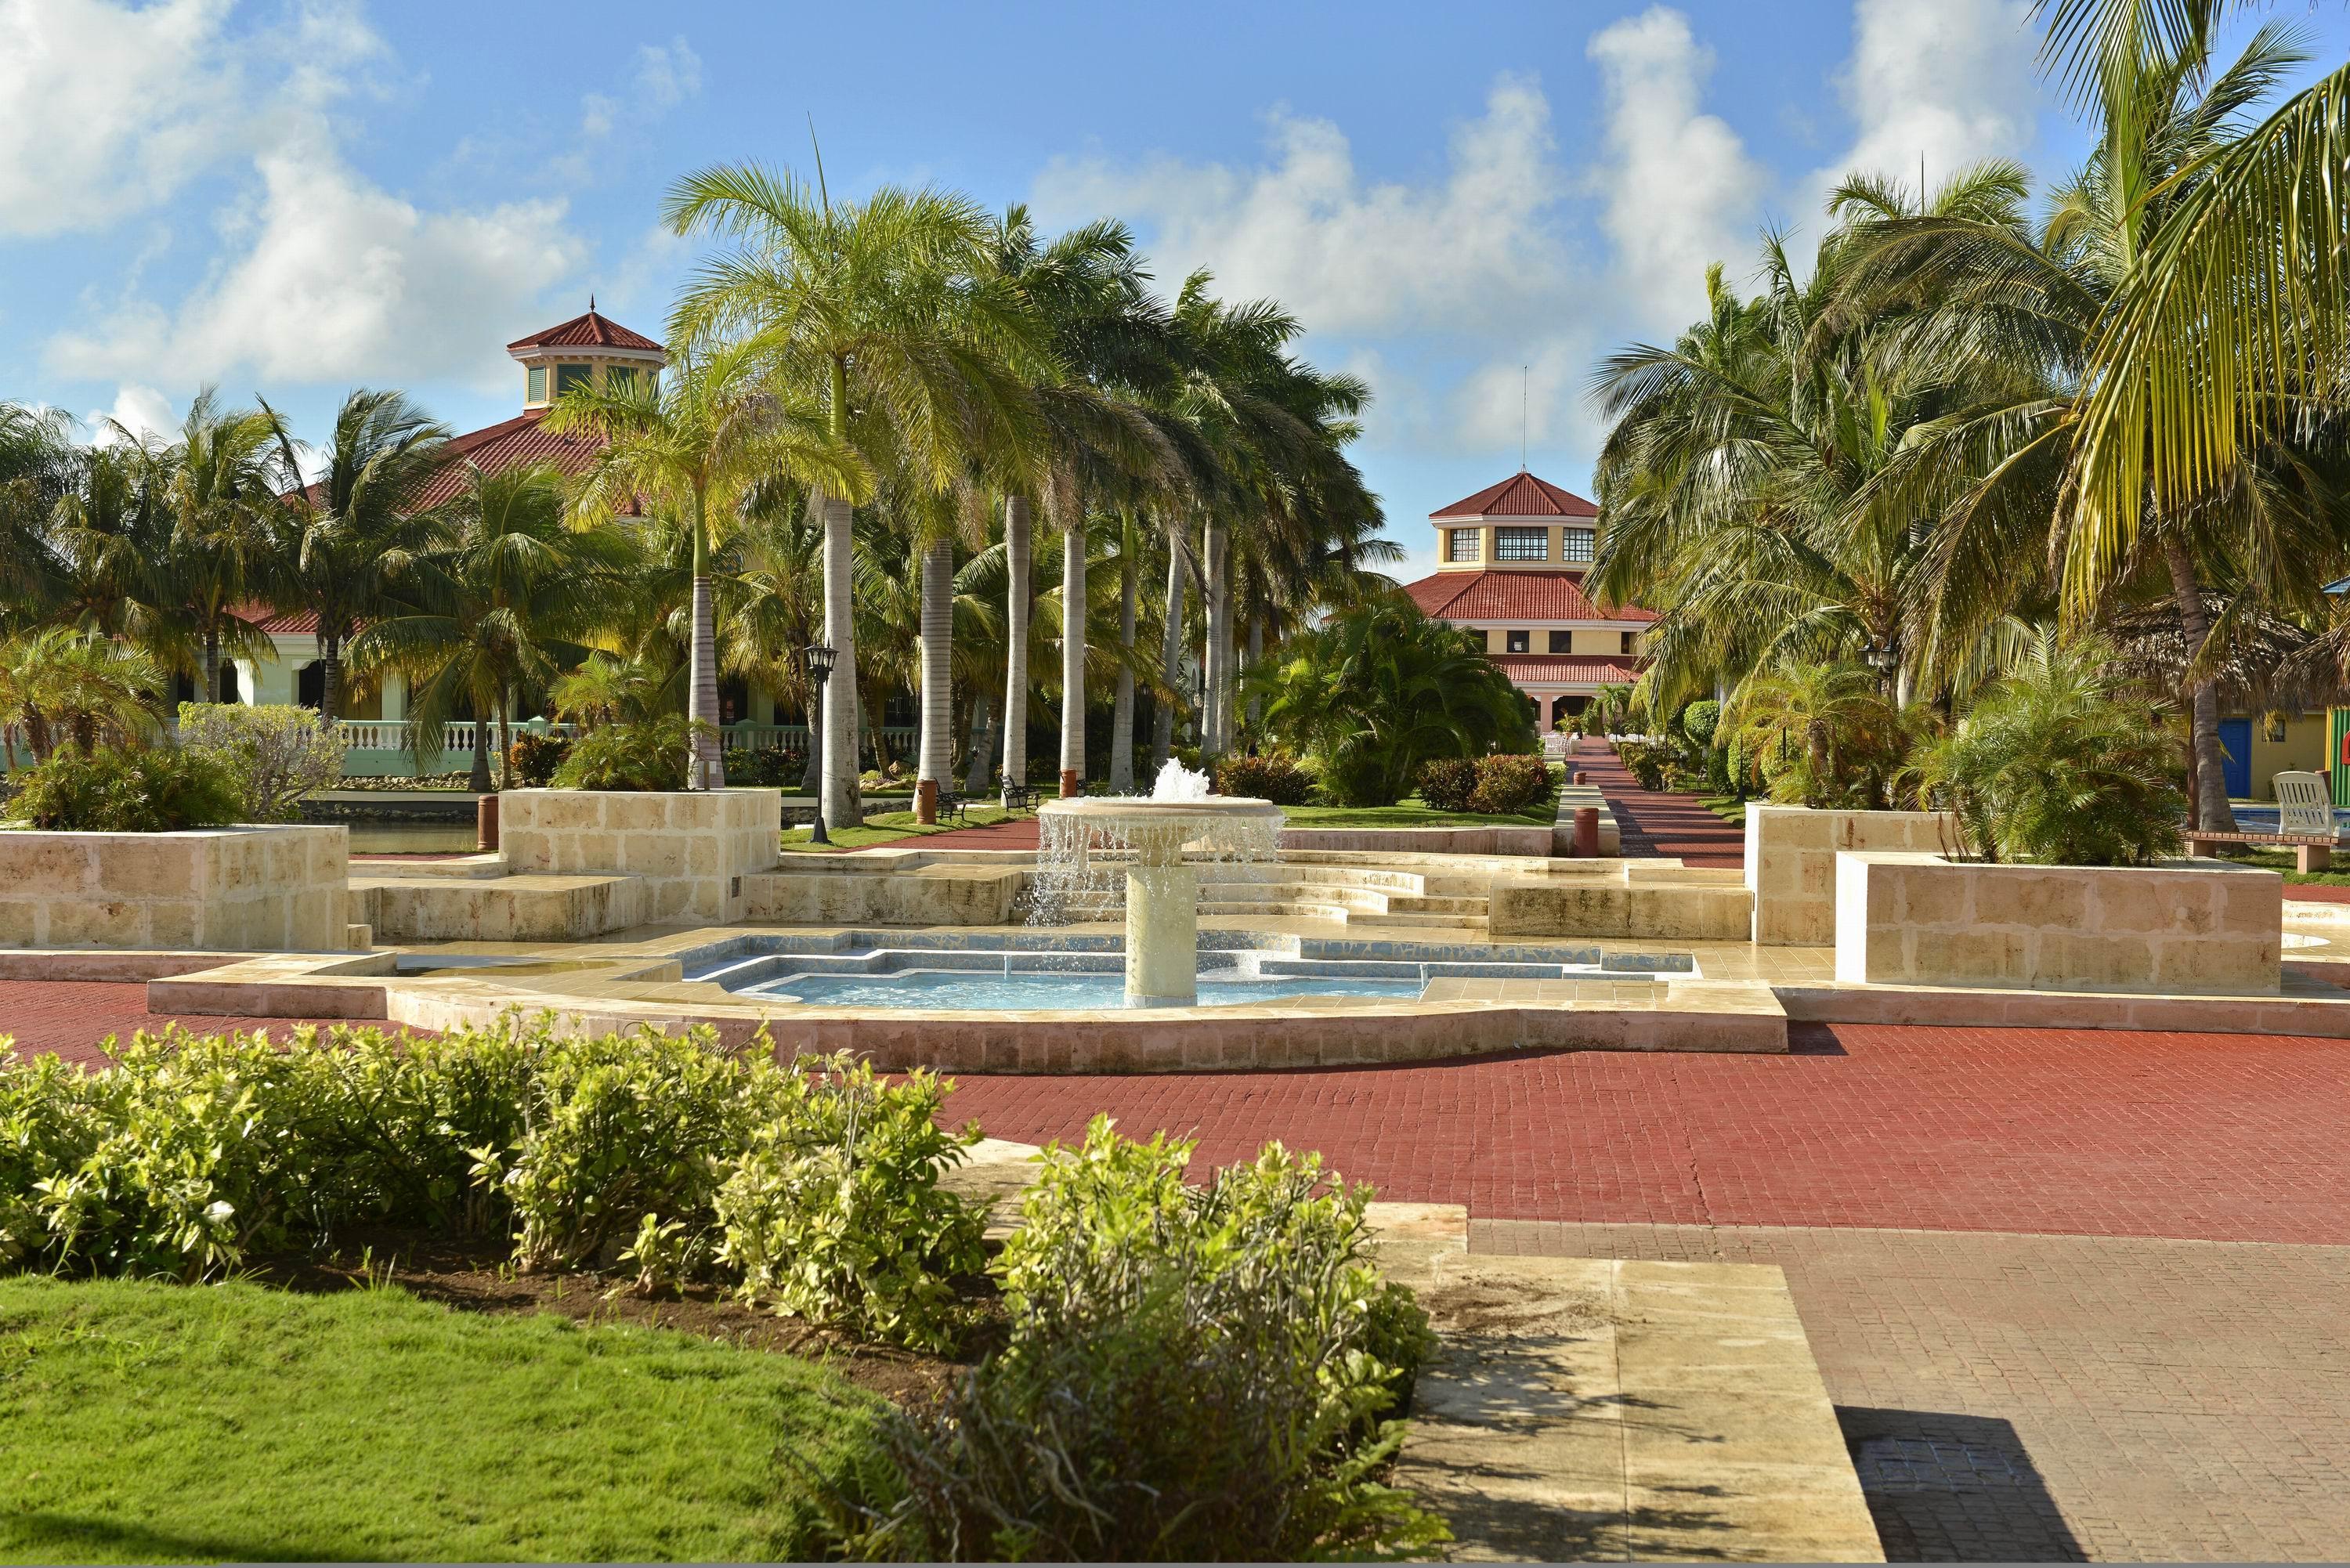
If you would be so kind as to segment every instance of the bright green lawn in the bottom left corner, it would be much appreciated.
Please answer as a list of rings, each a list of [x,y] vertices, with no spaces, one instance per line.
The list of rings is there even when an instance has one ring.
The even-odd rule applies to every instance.
[[[874,1408],[776,1352],[397,1288],[0,1279],[0,1559],[806,1559],[806,1472]]]

